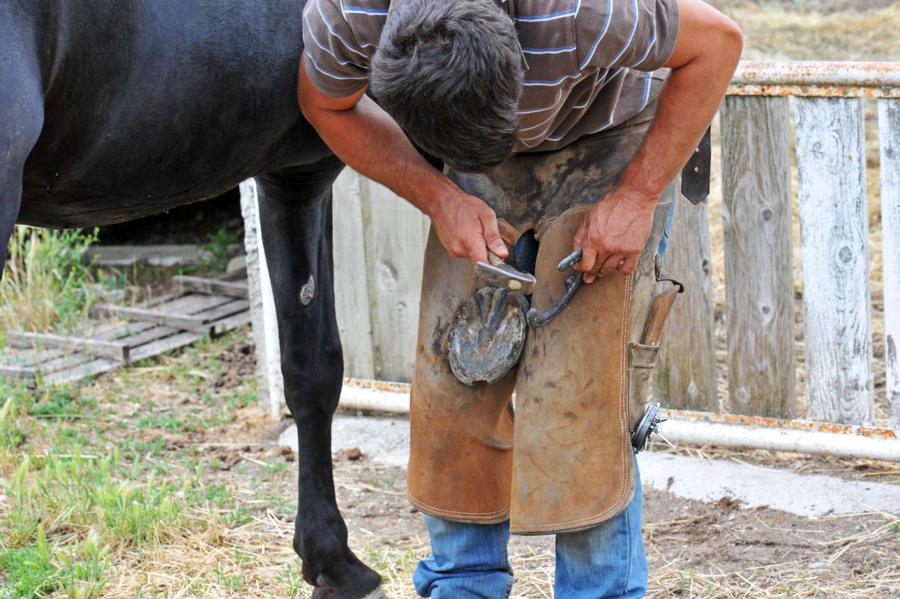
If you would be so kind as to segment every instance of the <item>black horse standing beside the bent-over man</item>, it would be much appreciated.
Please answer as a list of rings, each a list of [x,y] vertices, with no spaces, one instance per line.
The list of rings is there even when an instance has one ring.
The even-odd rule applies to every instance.
[[[314,596],[356,599],[381,594],[381,578],[347,548],[331,475],[331,184],[344,165],[297,105],[304,2],[0,0],[0,265],[16,222],[122,222],[256,177],[300,437],[294,549]]]

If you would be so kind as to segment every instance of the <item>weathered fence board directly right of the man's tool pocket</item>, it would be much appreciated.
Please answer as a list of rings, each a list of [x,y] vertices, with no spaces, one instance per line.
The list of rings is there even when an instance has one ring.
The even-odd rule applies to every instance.
[[[685,286],[662,339],[656,397],[667,407],[717,412],[716,344],[707,204],[682,195],[672,222],[664,267]]]

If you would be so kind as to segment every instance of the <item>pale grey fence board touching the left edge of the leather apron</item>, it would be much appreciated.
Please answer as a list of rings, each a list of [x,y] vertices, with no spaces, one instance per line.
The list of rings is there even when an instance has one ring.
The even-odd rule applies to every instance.
[[[428,218],[386,187],[361,181],[375,377],[409,381]]]

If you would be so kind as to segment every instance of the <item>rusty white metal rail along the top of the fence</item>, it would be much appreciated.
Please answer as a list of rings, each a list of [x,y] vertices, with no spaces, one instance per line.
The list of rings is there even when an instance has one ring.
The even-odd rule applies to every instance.
[[[742,60],[728,94],[900,98],[900,62]]]

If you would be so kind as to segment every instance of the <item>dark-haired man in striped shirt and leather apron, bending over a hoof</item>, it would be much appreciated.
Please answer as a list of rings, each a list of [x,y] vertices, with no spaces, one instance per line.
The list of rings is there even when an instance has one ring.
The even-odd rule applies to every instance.
[[[557,535],[557,597],[643,596],[631,433],[657,351],[647,320],[737,26],[700,0],[311,0],[304,43],[303,114],[432,221],[410,412],[410,501],[432,543],[417,591],[509,596],[511,531]],[[528,332],[515,368],[461,382],[457,306],[477,295],[490,345],[515,304],[480,291],[471,261],[534,272],[530,302],[546,307],[572,250],[591,285]]]

